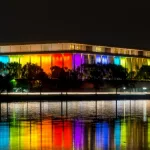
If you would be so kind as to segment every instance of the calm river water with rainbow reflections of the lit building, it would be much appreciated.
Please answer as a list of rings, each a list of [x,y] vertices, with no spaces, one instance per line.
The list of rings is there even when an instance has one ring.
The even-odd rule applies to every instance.
[[[0,150],[150,149],[150,100],[0,106]]]

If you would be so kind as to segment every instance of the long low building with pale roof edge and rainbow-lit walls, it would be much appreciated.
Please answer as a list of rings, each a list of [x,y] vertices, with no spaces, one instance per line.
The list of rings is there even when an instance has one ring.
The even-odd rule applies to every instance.
[[[130,72],[150,65],[150,51],[78,43],[1,45],[0,61],[35,63],[46,73],[50,73],[51,66],[75,69],[84,63],[112,63]]]

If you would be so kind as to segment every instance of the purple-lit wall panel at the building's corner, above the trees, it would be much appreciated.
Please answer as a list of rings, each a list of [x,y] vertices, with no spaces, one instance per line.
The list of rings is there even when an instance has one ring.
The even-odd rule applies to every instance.
[[[82,64],[82,56],[81,54],[77,53],[73,55],[73,68],[80,67]]]

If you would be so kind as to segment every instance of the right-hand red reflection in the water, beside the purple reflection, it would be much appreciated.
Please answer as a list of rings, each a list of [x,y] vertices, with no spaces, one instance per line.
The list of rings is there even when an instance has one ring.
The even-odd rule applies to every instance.
[[[64,122],[64,149],[72,149],[73,138],[72,138],[72,123],[71,121]]]

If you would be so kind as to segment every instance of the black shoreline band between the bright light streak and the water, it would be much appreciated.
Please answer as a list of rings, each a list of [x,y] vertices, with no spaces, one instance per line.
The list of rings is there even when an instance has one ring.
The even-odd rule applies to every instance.
[[[1,102],[14,101],[87,101],[87,100],[149,100],[150,94],[80,94],[80,95],[0,95]]]

